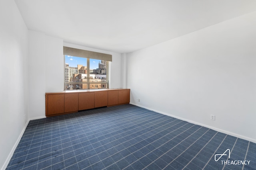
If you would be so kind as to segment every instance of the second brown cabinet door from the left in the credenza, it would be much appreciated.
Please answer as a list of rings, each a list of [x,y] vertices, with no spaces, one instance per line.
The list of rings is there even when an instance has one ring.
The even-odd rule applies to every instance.
[[[78,94],[65,94],[64,103],[65,113],[78,111]]]

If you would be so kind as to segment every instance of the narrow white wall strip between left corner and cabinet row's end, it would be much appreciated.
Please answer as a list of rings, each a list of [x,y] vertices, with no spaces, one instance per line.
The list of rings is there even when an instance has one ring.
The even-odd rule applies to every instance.
[[[44,33],[28,31],[28,96],[30,118],[42,118],[45,113]]]

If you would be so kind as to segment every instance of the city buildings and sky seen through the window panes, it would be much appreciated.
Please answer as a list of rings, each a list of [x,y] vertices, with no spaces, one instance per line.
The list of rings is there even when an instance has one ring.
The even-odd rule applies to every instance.
[[[108,61],[64,55],[65,89],[107,88]]]

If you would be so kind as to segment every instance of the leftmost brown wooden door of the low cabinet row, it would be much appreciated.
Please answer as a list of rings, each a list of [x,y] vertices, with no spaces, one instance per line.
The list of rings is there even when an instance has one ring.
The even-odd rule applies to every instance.
[[[48,97],[48,114],[64,113],[64,94],[50,94]]]

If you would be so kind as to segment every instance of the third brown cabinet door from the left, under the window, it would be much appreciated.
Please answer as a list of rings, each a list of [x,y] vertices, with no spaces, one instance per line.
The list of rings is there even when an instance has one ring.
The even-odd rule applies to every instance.
[[[94,92],[79,93],[78,110],[94,108]]]

